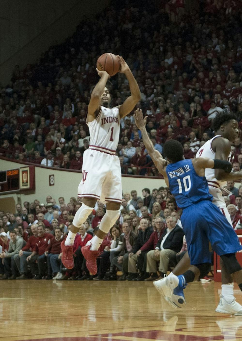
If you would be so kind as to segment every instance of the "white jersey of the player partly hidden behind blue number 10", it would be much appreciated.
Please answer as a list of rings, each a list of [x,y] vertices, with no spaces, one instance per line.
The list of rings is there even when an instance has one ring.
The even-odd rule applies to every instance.
[[[207,142],[205,142],[204,145],[202,147],[200,147],[200,149],[197,151],[196,158],[204,157],[204,158],[209,158],[209,159],[214,160],[215,159],[215,152],[212,149],[212,142],[217,137],[221,137],[221,135],[216,135],[213,138],[211,138],[210,140],[208,140]],[[228,161],[230,161],[230,157],[231,157],[231,152],[229,154]],[[225,186],[225,184],[226,184],[226,181],[220,181],[220,180],[217,180],[215,178],[213,168],[206,168],[205,169],[205,177],[207,179],[207,183],[209,184],[209,186],[219,188],[219,187]]]

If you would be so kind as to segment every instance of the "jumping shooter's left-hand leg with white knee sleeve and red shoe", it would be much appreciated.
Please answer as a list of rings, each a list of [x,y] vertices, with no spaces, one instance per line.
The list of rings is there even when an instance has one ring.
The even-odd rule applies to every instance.
[[[75,217],[72,221],[70,231],[66,237],[66,240],[62,241],[60,244],[62,249],[62,263],[67,269],[72,269],[74,266],[73,261],[73,243],[76,237],[76,234],[81,227],[81,225],[86,221],[89,214],[92,212],[97,199],[94,198],[83,198],[83,203],[81,207],[77,210]]]

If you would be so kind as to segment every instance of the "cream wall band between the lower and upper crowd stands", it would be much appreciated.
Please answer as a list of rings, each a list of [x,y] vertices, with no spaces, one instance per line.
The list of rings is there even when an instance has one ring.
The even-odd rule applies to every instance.
[[[0,170],[13,169],[23,167],[25,164],[19,162],[12,162],[0,160]],[[49,176],[54,175],[54,186],[49,185]],[[12,210],[10,202],[13,200],[17,203],[23,204],[24,201],[32,202],[34,199],[39,199],[41,203],[45,203],[47,195],[51,195],[54,199],[64,196],[68,202],[71,196],[77,196],[77,188],[82,179],[82,174],[78,171],[65,171],[42,166],[35,167],[35,191],[22,191],[19,193],[0,193],[0,209]],[[142,189],[148,187],[150,190],[166,186],[163,179],[154,179],[147,177],[122,176],[123,192],[130,192],[136,189],[138,195],[142,196]],[[8,201],[6,201],[8,198]],[[12,198],[12,199],[10,199]]]

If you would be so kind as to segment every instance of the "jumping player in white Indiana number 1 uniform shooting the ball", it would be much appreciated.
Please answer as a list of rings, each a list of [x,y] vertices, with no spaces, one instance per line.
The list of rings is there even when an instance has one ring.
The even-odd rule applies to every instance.
[[[68,269],[73,268],[72,245],[79,227],[92,212],[97,200],[106,203],[106,213],[100,223],[96,236],[89,246],[82,247],[86,266],[90,273],[97,272],[96,258],[98,249],[109,229],[120,216],[122,199],[121,169],[116,149],[119,142],[120,119],[128,115],[140,100],[138,84],[124,59],[117,56],[121,69],[129,81],[131,96],[122,105],[110,108],[110,94],[106,88],[109,74],[97,70],[101,77],[92,91],[88,106],[87,124],[90,131],[89,149],[84,151],[82,180],[78,187],[78,196],[83,204],[73,219],[65,242],[62,242],[62,263]]]

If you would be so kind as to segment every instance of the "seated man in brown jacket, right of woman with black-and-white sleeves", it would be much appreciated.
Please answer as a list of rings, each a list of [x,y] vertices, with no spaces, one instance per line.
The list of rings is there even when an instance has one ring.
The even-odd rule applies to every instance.
[[[129,253],[134,246],[137,235],[136,233],[131,231],[131,227],[127,222],[123,223],[122,230],[124,233],[124,236],[122,238],[122,250],[117,257],[113,258],[113,265],[115,265],[120,271],[123,272],[120,280],[126,280],[126,277],[128,276]]]

